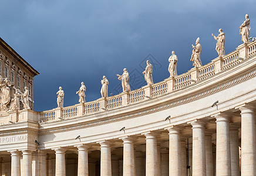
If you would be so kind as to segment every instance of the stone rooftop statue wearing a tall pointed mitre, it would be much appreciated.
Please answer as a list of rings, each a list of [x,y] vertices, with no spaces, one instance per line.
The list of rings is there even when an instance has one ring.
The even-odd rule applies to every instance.
[[[201,55],[201,52],[202,52],[202,47],[201,47],[201,44],[199,42],[200,42],[200,38],[197,38],[196,46],[192,45],[192,47],[194,49],[192,50],[192,55],[191,55],[190,61],[193,62],[193,66],[195,66],[195,67],[201,67],[202,66],[202,62],[201,62],[201,59],[200,59],[200,55]]]

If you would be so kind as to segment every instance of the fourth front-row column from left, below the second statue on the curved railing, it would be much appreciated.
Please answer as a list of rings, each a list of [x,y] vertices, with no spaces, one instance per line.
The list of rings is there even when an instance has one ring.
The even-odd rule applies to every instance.
[[[88,176],[88,148],[86,145],[78,145],[78,176]]]

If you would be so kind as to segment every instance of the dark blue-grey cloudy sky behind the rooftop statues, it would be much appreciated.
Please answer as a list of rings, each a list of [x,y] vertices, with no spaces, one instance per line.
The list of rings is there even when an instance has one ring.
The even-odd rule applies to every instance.
[[[245,3],[246,2],[246,3]],[[65,91],[64,106],[78,103],[80,83],[86,101],[100,98],[106,75],[109,93],[117,94],[126,67],[131,87],[146,85],[146,60],[154,63],[153,80],[169,77],[171,50],[177,72],[190,70],[191,44],[200,37],[203,65],[217,57],[213,36],[225,33],[225,52],[241,42],[239,26],[246,13],[256,37],[256,2],[248,1],[1,1],[0,36],[40,75],[34,77],[34,110],[57,107],[56,92]]]

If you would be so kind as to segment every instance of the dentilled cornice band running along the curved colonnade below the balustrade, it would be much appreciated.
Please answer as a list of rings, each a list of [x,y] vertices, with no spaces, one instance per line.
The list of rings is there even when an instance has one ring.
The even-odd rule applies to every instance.
[[[232,68],[233,67],[231,67],[230,69],[232,69]],[[228,70],[230,70],[230,69],[228,69]],[[227,70],[225,70],[224,72],[227,72]],[[223,72],[220,72],[220,73],[223,73]],[[216,74],[214,76],[220,76],[220,75]],[[214,76],[212,76],[212,77],[214,77]],[[113,123],[115,121],[121,121],[121,120],[131,119],[133,117],[144,116],[146,114],[156,113],[157,111],[170,109],[171,107],[189,103],[191,101],[195,101],[195,100],[201,99],[203,97],[209,96],[211,94],[220,92],[221,90],[232,87],[235,84],[239,84],[239,83],[244,82],[245,80],[251,79],[252,77],[255,77],[255,76],[256,76],[256,70],[254,67],[247,73],[244,72],[243,74],[240,74],[239,76],[237,76],[235,78],[233,75],[233,79],[230,78],[230,79],[225,79],[225,82],[224,81],[218,82],[217,86],[214,86],[214,87],[208,86],[208,88],[204,89],[203,91],[191,94],[190,96],[187,96],[187,95],[183,96],[180,99],[176,99],[171,102],[169,101],[169,103],[161,103],[161,105],[159,105],[159,106],[149,107],[149,108],[143,109],[143,110],[137,110],[134,113],[129,113],[129,114],[126,113],[125,115],[113,116],[113,117],[108,117],[108,118],[105,117],[105,119],[89,121],[86,123],[80,123],[80,124],[75,124],[75,125],[70,125],[70,126],[65,126],[65,127],[55,127],[55,128],[50,128],[47,130],[40,130],[39,134],[60,133],[63,131],[78,130],[80,128],[99,126],[101,124]],[[201,82],[203,83],[203,81],[201,81]],[[191,86],[193,86],[193,85],[191,85]],[[191,87],[191,86],[189,86],[189,87]],[[187,88],[188,87],[184,88],[184,90],[186,90]],[[178,91],[180,91],[180,90],[177,90],[177,92]],[[170,96],[170,95],[166,94],[163,96]],[[163,96],[161,96],[161,97],[163,97]],[[142,102],[139,102],[139,103],[142,103]],[[136,104],[134,104],[134,105],[136,106]]]

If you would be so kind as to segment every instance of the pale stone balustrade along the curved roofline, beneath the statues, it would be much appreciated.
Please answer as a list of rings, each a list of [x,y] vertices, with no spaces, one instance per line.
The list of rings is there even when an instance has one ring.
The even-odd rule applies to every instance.
[[[256,55],[256,41],[251,42],[248,45],[242,44],[238,46],[234,52],[228,53],[228,55],[223,57],[217,57],[207,65],[199,68],[194,67],[182,75],[169,77],[162,82],[144,86],[129,93],[120,93],[115,96],[100,98],[84,104],[75,104],[74,106],[64,107],[62,109],[56,108],[53,110],[42,111],[40,113],[40,121],[45,122],[70,117],[86,116],[87,114],[116,109],[129,104],[149,100],[163,94],[183,89],[191,84],[201,82],[204,79],[233,67],[242,62],[242,60],[254,55]]]

